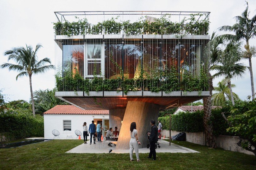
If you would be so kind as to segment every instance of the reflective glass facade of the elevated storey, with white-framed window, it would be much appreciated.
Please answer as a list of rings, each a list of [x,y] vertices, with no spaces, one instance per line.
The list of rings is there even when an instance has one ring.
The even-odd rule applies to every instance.
[[[73,77],[78,73],[84,79],[101,78],[97,80],[103,83],[99,89],[106,91],[125,87],[128,91],[207,91],[208,86],[195,85],[202,81],[203,73],[203,83],[208,83],[207,43],[189,39],[64,40],[62,75],[65,79],[69,71]],[[87,86],[93,91],[94,85]]]

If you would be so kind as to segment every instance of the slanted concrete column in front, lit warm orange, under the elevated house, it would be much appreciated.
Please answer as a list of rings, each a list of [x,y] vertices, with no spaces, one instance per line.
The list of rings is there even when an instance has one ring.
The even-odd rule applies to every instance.
[[[151,131],[149,122],[151,119],[157,121],[159,107],[153,103],[128,101],[116,149],[130,148],[130,125],[132,122],[136,122],[138,139],[141,142],[140,148],[145,148],[149,144],[146,134],[147,131]]]

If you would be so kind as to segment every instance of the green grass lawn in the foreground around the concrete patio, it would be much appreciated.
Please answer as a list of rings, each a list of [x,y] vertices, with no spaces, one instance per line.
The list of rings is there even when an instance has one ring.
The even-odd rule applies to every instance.
[[[0,149],[0,169],[256,169],[253,155],[180,141],[173,143],[201,153],[157,153],[156,161],[141,153],[141,162],[130,162],[128,153],[65,153],[82,143],[82,140],[51,140]]]

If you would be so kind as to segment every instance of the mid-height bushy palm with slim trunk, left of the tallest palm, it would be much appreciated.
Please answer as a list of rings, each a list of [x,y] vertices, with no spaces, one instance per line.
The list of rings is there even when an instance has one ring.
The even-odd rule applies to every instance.
[[[230,90],[230,97],[232,104],[234,105],[234,96],[232,92],[231,79],[243,77],[247,67],[243,63],[238,63],[241,59],[241,42],[231,41],[229,42],[221,56],[218,58],[217,63],[212,67],[217,71],[212,77],[222,77],[227,79],[228,88]]]

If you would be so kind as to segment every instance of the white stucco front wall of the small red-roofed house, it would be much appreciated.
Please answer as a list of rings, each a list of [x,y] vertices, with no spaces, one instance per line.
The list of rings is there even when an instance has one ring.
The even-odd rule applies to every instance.
[[[71,135],[73,139],[75,139],[75,130],[80,130],[83,133],[84,122],[87,123],[87,127],[89,130],[89,125],[94,119],[109,119],[109,115],[44,114],[44,139],[53,139],[54,135],[52,134],[52,130],[54,129],[59,131],[60,139],[66,139],[66,134],[63,130],[63,120],[71,120]],[[81,136],[81,139],[82,138],[83,135]]]

